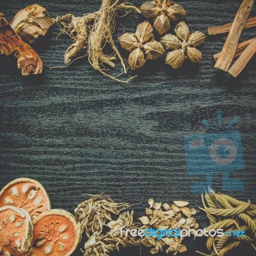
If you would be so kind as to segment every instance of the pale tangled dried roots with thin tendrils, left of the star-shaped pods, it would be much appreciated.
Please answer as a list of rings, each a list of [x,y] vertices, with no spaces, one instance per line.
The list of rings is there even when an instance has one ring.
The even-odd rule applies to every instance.
[[[126,5],[124,1],[102,0],[100,10],[95,13],[84,15],[81,18],[76,18],[71,14],[57,17],[55,22],[61,22],[61,26],[63,27],[61,31],[67,31],[68,35],[74,39],[74,44],[65,53],[65,63],[70,63],[71,58],[76,56],[78,51],[87,47],[88,60],[95,70],[116,81],[128,83],[130,79],[122,81],[117,77],[111,76],[106,73],[106,68],[104,67],[105,64],[115,67],[113,61],[116,60],[115,56],[117,56],[122,65],[123,72],[125,74],[127,73],[125,61],[116,48],[112,36],[115,30],[116,13],[122,9],[135,10],[141,13],[138,8],[132,5]],[[89,26],[90,21],[93,21],[91,26]],[[87,30],[89,31],[88,33]],[[113,54],[108,56],[104,53],[104,48],[107,44],[112,48],[115,56]]]

